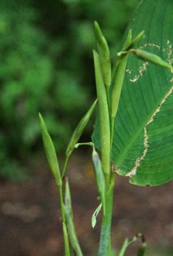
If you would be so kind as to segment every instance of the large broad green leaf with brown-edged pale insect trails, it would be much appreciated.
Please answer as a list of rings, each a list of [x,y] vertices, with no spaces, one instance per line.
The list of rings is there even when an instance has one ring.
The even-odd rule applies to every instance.
[[[145,0],[127,26],[133,38],[145,30],[136,48],[172,63],[173,1]],[[120,49],[122,48],[122,45]],[[114,122],[112,162],[132,184],[156,186],[173,178],[173,74],[129,56]],[[92,140],[100,149],[98,117]]]

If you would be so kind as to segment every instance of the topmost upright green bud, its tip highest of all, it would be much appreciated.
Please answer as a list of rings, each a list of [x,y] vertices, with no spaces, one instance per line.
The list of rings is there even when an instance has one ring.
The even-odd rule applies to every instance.
[[[101,63],[101,72],[103,75],[104,83],[106,86],[111,84],[111,61],[110,61],[110,50],[106,39],[101,33],[99,24],[95,21],[95,36],[97,42],[97,48]]]

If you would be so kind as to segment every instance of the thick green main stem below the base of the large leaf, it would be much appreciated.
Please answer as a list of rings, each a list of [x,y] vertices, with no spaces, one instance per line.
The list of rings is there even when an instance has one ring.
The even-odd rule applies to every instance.
[[[110,231],[112,219],[112,204],[116,173],[111,173],[110,188],[106,195],[106,212],[101,222],[101,233],[99,243],[99,256],[106,256],[110,251]]]

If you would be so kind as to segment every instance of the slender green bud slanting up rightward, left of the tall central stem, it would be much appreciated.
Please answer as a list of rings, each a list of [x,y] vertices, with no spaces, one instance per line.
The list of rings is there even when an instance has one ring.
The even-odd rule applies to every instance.
[[[71,153],[73,152],[74,145],[76,145],[78,140],[80,139],[80,137],[85,129],[85,126],[87,125],[89,118],[92,115],[92,112],[93,112],[93,109],[95,108],[96,103],[97,103],[97,100],[95,100],[95,102],[92,104],[91,108],[89,108],[88,112],[86,112],[84,117],[78,123],[76,129],[73,131],[72,137],[70,138],[69,144],[67,145],[66,156],[70,156]]]

